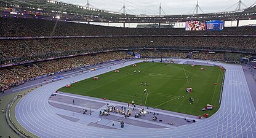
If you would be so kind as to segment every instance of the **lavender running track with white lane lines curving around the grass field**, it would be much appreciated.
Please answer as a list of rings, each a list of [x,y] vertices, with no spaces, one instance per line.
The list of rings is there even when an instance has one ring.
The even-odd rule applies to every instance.
[[[187,60],[187,59],[181,59]],[[195,60],[194,60],[195,61]],[[125,66],[140,61],[128,61]],[[256,137],[256,112],[246,77],[240,65],[196,61],[226,68],[222,104],[217,113],[206,120],[170,129],[112,130],[82,125],[55,114],[49,96],[71,82],[94,77],[120,68],[114,65],[98,71],[44,85],[26,94],[15,108],[15,116],[28,131],[39,137]],[[233,83],[238,82],[238,83]]]

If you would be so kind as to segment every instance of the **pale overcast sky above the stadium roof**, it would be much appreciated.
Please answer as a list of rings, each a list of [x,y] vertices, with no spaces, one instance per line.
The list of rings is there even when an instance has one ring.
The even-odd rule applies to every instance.
[[[58,0],[63,2],[69,2],[71,4],[78,4],[85,6],[87,0]],[[238,6],[239,0],[199,0],[199,6],[204,13],[233,11]],[[254,4],[255,0],[242,0],[242,2],[250,7]],[[161,15],[181,15],[187,13],[193,13],[194,7],[196,7],[196,0],[89,0],[89,4],[92,7],[103,10],[110,10],[113,12],[119,12],[122,6],[126,5],[127,13],[140,15],[159,15],[159,4],[164,12]],[[231,7],[233,6],[233,7]],[[241,8],[245,8],[241,6]],[[123,12],[120,11],[120,12]],[[199,10],[199,13],[202,13]]]

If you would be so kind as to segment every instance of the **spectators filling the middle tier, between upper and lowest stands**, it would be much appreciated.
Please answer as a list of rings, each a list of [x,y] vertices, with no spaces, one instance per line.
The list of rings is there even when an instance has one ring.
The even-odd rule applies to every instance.
[[[256,49],[254,37],[90,37],[0,40],[0,58],[21,58],[50,53],[98,52],[129,47],[210,47]]]

